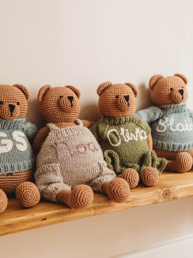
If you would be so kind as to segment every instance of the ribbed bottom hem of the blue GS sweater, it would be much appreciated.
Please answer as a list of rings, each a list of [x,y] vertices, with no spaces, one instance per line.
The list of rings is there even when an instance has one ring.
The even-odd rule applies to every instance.
[[[34,160],[23,161],[19,163],[7,163],[0,165],[0,174],[15,173],[20,171],[26,171],[35,167]]]

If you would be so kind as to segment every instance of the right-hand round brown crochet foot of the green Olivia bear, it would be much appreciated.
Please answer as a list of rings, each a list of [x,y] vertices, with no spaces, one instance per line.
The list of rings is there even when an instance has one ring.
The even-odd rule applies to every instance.
[[[154,186],[159,180],[159,174],[153,167],[146,167],[141,174],[142,182],[147,186]]]

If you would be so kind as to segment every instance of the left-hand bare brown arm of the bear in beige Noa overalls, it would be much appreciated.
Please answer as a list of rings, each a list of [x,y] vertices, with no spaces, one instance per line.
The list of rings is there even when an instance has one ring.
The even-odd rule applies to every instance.
[[[46,127],[43,127],[42,129],[40,129],[39,132],[37,133],[37,135],[34,139],[34,142],[33,142],[33,146],[32,146],[35,156],[38,155],[39,150],[42,146],[42,143],[48,137],[49,132],[50,132],[50,128],[46,126]]]

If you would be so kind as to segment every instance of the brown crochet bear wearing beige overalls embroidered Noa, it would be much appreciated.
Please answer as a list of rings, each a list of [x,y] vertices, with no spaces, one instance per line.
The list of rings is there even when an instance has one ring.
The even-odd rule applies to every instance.
[[[107,168],[103,153],[89,131],[93,123],[77,119],[80,91],[74,86],[43,86],[38,92],[39,112],[47,121],[37,134],[36,185],[42,197],[74,209],[89,206],[93,191],[115,202],[127,200],[130,188]],[[86,126],[87,127],[86,127]]]

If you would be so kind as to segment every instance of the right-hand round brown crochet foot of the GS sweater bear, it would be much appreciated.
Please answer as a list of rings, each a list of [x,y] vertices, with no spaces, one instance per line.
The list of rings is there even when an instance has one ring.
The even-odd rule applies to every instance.
[[[33,207],[40,200],[40,193],[37,186],[32,182],[23,182],[15,190],[17,200],[24,207]]]

